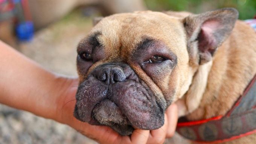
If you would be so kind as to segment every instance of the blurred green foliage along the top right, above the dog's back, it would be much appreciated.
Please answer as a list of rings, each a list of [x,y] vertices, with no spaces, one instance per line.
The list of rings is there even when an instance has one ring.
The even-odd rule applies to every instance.
[[[256,15],[256,0],[145,0],[151,10],[175,10],[194,13],[222,7],[234,7],[239,11],[239,19],[245,20]]]

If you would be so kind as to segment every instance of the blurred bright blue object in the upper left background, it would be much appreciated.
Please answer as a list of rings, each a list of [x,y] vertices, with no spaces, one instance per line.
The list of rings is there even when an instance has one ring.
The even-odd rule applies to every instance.
[[[32,21],[18,23],[16,26],[16,34],[19,40],[29,41],[34,36],[34,25]]]

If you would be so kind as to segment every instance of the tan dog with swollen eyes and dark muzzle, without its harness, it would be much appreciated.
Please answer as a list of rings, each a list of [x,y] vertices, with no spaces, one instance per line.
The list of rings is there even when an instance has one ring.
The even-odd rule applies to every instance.
[[[190,121],[225,115],[256,74],[256,33],[237,19],[223,8],[98,20],[78,44],[74,116],[130,135],[163,126],[174,102]],[[235,143],[241,139],[256,135]]]

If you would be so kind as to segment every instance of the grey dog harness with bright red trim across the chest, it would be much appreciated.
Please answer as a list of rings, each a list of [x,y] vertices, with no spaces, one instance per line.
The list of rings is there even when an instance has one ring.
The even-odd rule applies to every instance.
[[[225,115],[198,120],[179,119],[176,131],[193,141],[218,143],[256,133],[256,75]]]

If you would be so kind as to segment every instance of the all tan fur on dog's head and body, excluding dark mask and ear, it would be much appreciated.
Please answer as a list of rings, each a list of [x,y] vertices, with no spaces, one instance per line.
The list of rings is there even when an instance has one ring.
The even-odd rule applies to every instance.
[[[172,16],[144,11],[103,18],[91,34],[102,33],[98,39],[104,44],[105,58],[94,63],[88,73],[101,63],[125,62],[145,81],[159,102],[168,105],[166,99],[176,101],[180,115],[200,120],[225,114],[256,74],[256,33],[244,22],[237,21],[210,62],[196,65],[189,57],[183,27],[183,19],[190,13],[168,14]],[[131,60],[136,44],[145,36],[160,40],[177,55],[177,66],[163,79],[149,77]],[[174,89],[175,96],[171,97]],[[250,135],[232,142],[252,143],[255,139],[256,135]]]

